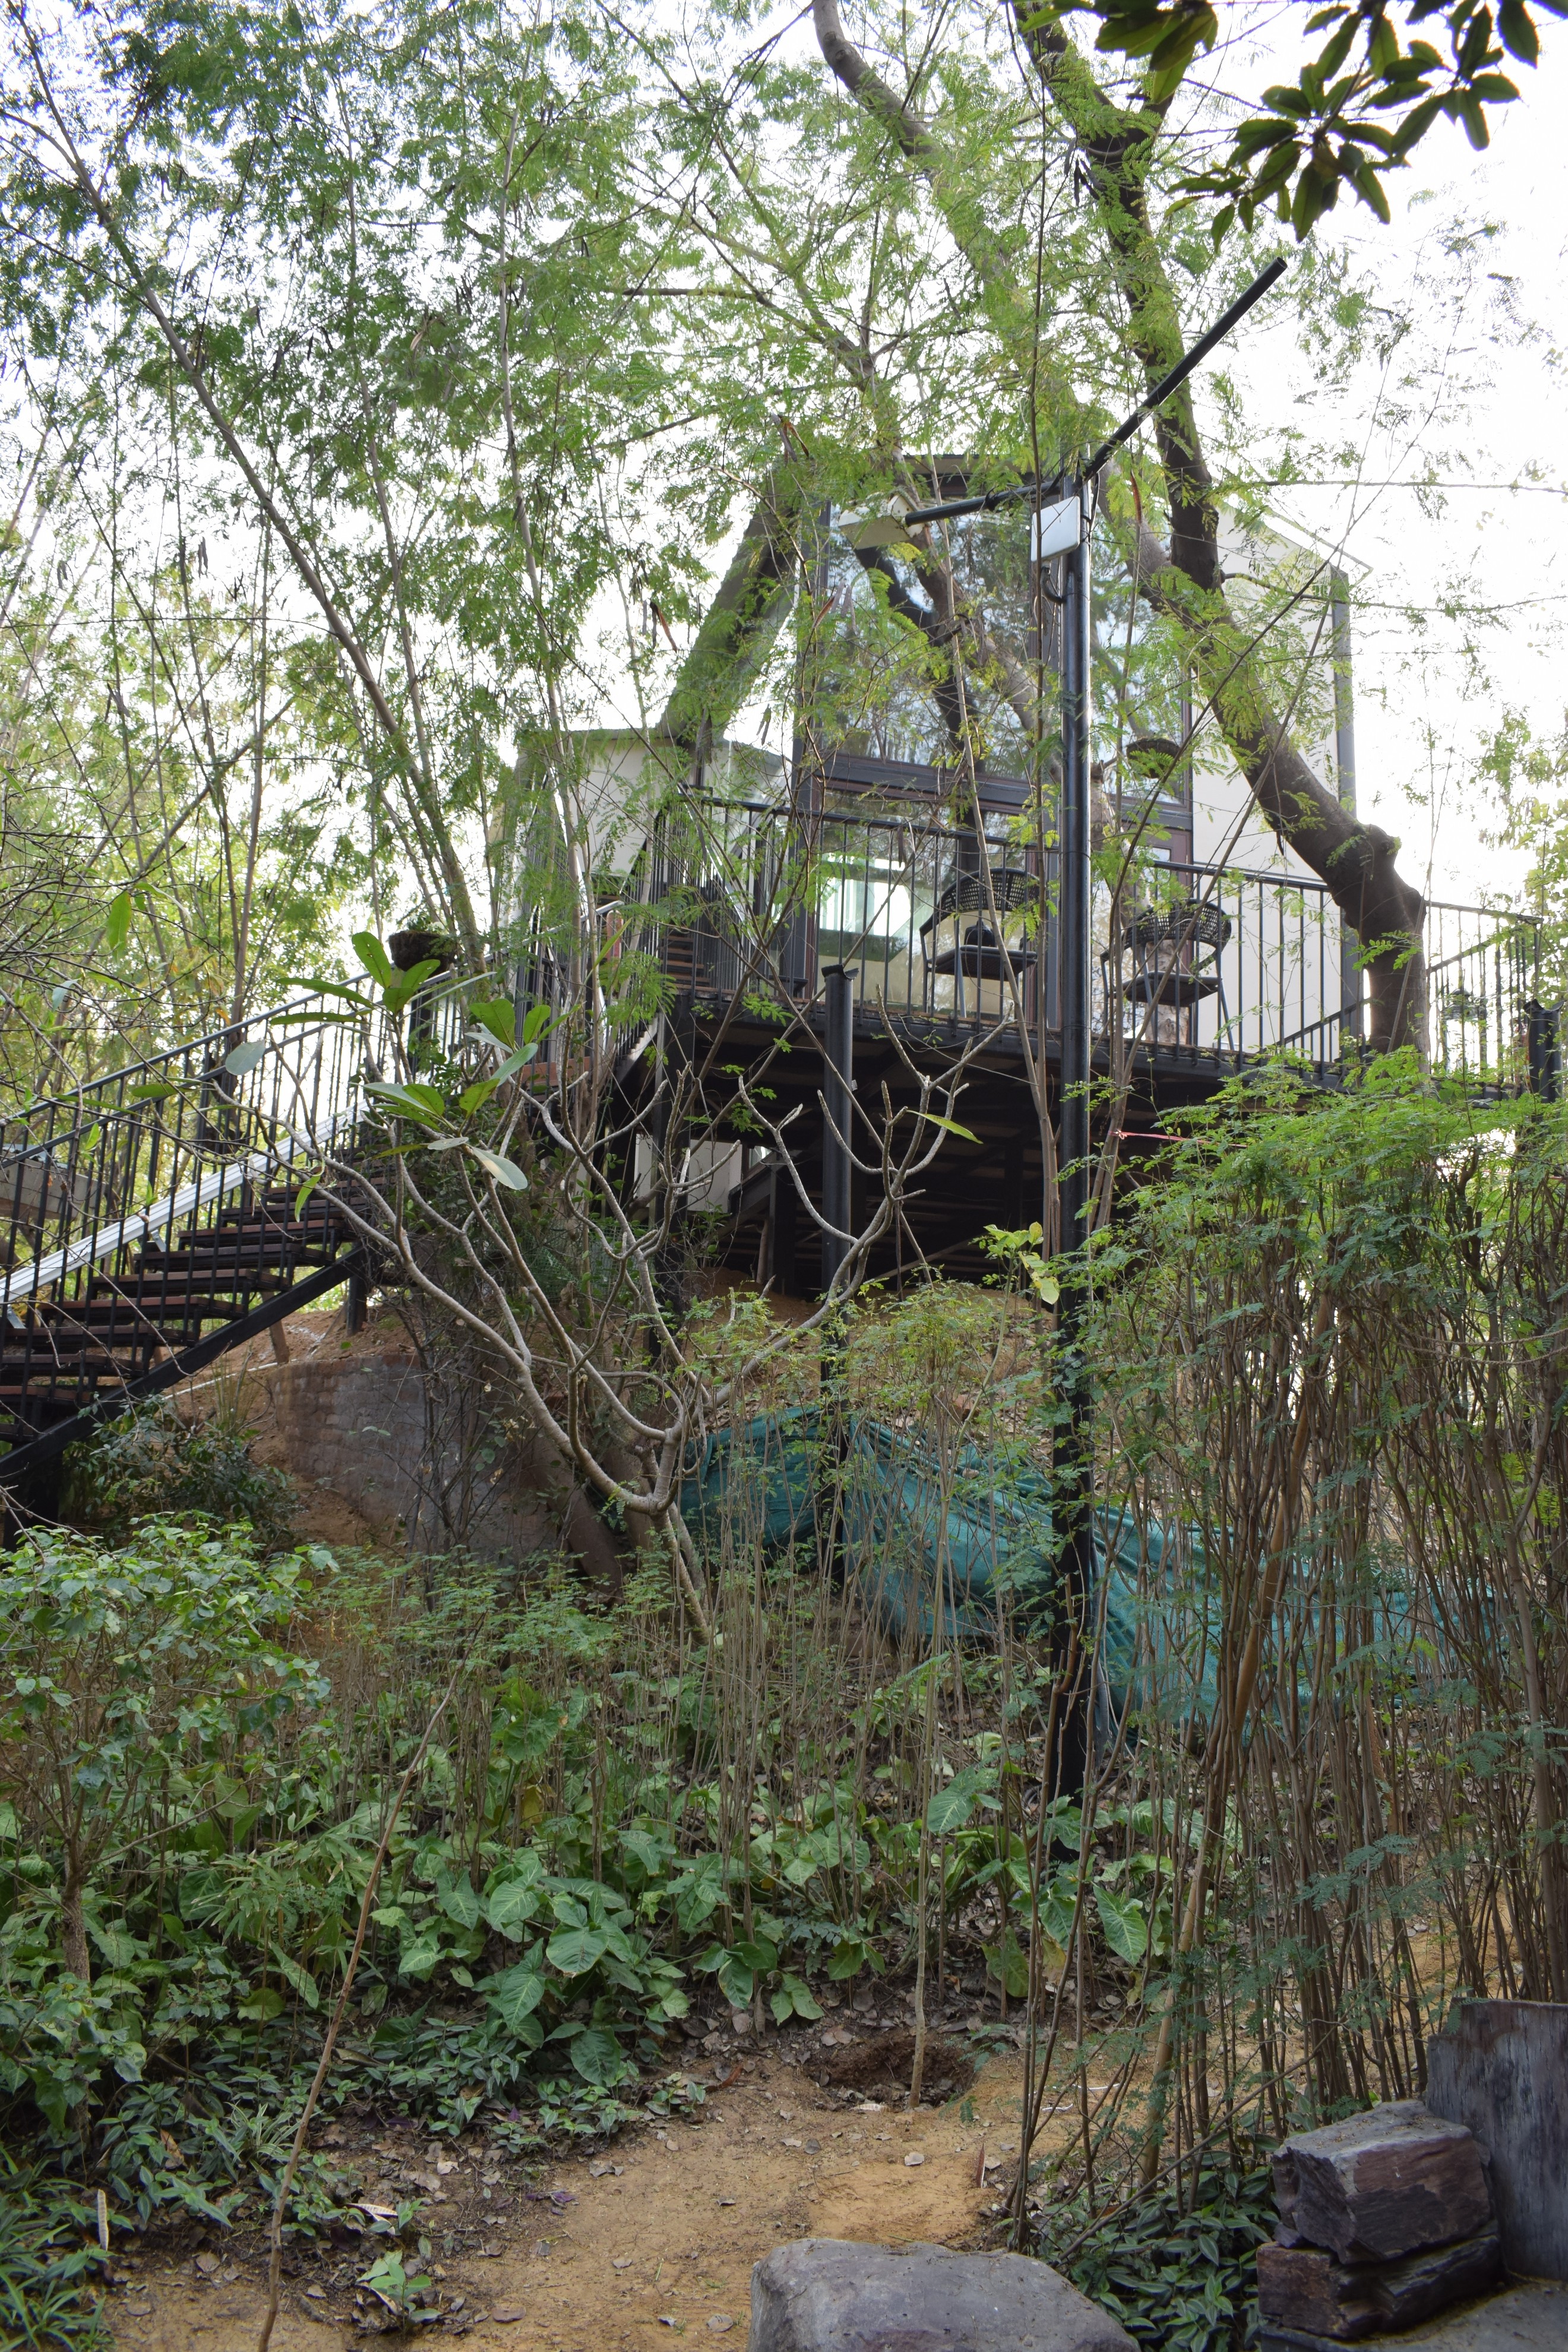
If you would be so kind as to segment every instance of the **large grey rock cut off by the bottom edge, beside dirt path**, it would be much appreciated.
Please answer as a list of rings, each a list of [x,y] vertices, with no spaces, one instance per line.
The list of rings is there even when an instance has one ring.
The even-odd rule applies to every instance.
[[[804,2237],[752,2270],[748,2352],[1135,2352],[1044,2263]]]

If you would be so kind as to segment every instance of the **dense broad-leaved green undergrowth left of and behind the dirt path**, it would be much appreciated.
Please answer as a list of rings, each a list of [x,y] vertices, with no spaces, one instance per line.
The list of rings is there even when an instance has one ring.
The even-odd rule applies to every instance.
[[[294,1646],[306,1611],[355,1628],[360,1684],[395,1668],[378,1700],[334,1700]],[[362,1773],[374,1788],[407,1755],[458,1656],[473,1672],[388,1846],[334,2096],[374,2086],[442,2133],[520,2107],[536,2131],[604,2131],[668,2070],[705,1980],[783,2025],[820,2016],[818,1971],[884,1969],[912,1896],[896,1799],[872,1806],[844,1773],[788,1797],[759,1783],[726,1851],[712,1717],[686,1677],[616,1665],[644,1637],[635,1592],[595,1618],[555,1576],[517,1590],[475,1564],[261,1562],[242,1526],[28,1541],[0,1573],[12,2129],[42,2129],[66,2161],[92,2143],[136,2223],[254,2209],[381,1830]],[[632,1705],[614,1762],[611,1696]],[[879,1743],[903,1703],[872,1696]],[[985,1828],[964,1835],[954,1905],[983,1907]],[[289,2225],[350,2201],[313,2157]]]

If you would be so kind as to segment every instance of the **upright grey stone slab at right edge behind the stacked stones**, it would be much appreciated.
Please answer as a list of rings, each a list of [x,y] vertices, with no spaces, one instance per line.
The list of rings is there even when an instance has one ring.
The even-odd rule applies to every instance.
[[[1455,2002],[1427,2105],[1481,2143],[1514,2277],[1568,2279],[1568,2004]]]

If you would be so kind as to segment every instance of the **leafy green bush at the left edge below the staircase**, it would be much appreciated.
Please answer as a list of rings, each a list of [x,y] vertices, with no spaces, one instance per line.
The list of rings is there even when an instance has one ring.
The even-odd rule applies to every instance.
[[[165,1519],[118,1552],[38,1531],[0,1564],[0,2084],[56,2131],[99,2053],[141,2070],[136,1915],[181,1851],[233,1835],[254,1764],[327,1696],[277,1639],[301,1578],[244,1529]]]

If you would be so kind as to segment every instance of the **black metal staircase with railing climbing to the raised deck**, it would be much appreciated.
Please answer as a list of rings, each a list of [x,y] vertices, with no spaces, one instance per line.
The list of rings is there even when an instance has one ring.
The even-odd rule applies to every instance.
[[[362,1294],[308,1195],[353,1150],[364,1033],[327,997],[0,1122],[0,1486],[324,1291]]]

